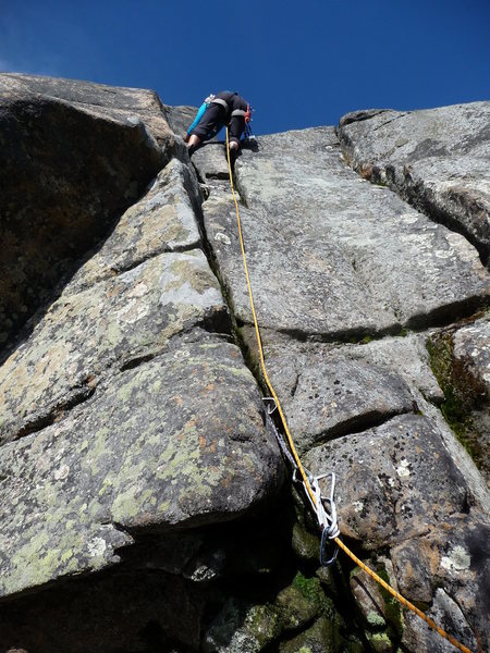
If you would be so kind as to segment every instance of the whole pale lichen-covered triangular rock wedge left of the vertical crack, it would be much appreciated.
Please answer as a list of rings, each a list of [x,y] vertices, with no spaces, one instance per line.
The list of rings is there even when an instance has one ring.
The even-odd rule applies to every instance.
[[[97,115],[84,109],[88,143],[101,121],[120,124],[98,115],[113,111],[101,100],[107,89],[39,84],[62,96],[63,108],[86,95],[102,102]],[[133,98],[135,110],[152,98],[114,94],[123,104]],[[15,88],[17,96],[37,106],[32,90]],[[196,175],[188,158],[164,165],[154,143],[160,172],[83,252],[1,367],[2,595],[111,567],[135,532],[235,519],[270,501],[283,481],[257,384],[231,342],[228,307],[203,251]],[[102,146],[111,153],[110,141]],[[60,164],[57,157],[47,149],[50,165]]]

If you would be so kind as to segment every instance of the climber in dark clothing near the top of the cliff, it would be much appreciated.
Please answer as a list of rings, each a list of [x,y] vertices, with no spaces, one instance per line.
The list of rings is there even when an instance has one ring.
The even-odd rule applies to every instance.
[[[230,156],[235,159],[240,149],[240,138],[249,120],[249,104],[237,93],[222,90],[217,95],[208,96],[184,136],[189,156],[203,140],[209,140],[218,134],[221,127],[228,125]]]

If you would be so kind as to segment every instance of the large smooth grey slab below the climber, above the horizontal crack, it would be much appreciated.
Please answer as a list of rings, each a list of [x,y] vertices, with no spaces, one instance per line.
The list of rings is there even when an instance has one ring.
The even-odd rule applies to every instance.
[[[258,152],[243,151],[236,178],[262,328],[313,338],[382,334],[488,298],[488,272],[465,238],[359,178],[332,128],[262,137]],[[229,192],[211,192],[203,210],[235,315],[250,322]]]

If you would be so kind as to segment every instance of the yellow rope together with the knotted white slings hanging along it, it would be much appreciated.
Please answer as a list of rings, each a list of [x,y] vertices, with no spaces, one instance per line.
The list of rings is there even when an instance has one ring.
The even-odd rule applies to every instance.
[[[238,230],[238,241],[240,241],[240,247],[242,250],[242,259],[243,259],[243,267],[244,267],[244,271],[245,271],[245,278],[246,278],[246,282],[247,282],[248,299],[249,299],[249,304],[250,304],[252,317],[253,317],[253,321],[254,321],[255,337],[257,341],[257,348],[258,348],[258,354],[259,354],[259,359],[260,359],[260,369],[261,369],[261,372],[264,375],[264,381],[265,381],[265,383],[270,392],[270,395],[271,395],[270,397],[265,397],[264,401],[266,402],[267,414],[269,416],[269,420],[271,423],[273,423],[273,422],[272,422],[270,416],[272,415],[272,412],[275,409],[278,410],[278,414],[280,416],[280,421],[281,421],[282,428],[283,428],[285,436],[286,436],[287,446],[286,446],[286,442],[284,441],[282,435],[279,433],[278,429],[275,429],[275,427],[274,427],[275,438],[278,439],[281,451],[284,452],[285,457],[287,458],[287,460],[291,463],[291,465],[293,467],[293,480],[297,480],[303,484],[305,494],[309,501],[309,504],[311,505],[311,508],[316,515],[318,525],[320,527],[320,531],[321,531],[320,562],[321,562],[321,564],[326,564],[327,566],[331,565],[334,562],[334,559],[336,557],[336,553],[339,551],[338,549],[335,549],[335,552],[330,559],[324,560],[324,547],[327,544],[327,540],[333,541],[338,547],[342,549],[342,551],[356,565],[358,565],[360,567],[360,569],[363,569],[363,571],[365,571],[368,576],[370,576],[373,580],[376,580],[377,583],[379,583],[384,590],[387,590],[392,596],[394,596],[402,605],[404,605],[409,611],[412,611],[413,613],[418,615],[421,619],[424,619],[424,621],[426,621],[426,624],[430,628],[432,628],[432,630],[436,630],[441,637],[443,637],[449,642],[451,642],[451,644],[453,644],[453,646],[455,646],[460,651],[463,651],[463,653],[471,653],[471,651],[468,648],[464,646],[454,637],[452,637],[451,634],[445,632],[430,617],[428,617],[425,613],[422,613],[420,609],[418,609],[418,607],[416,607],[413,603],[407,601],[407,599],[402,596],[402,594],[400,594],[388,582],[385,582],[380,576],[378,576],[378,574],[372,571],[372,569],[370,569],[367,565],[365,565],[363,563],[363,560],[360,560],[342,542],[342,540],[340,539],[340,530],[336,525],[336,510],[335,510],[335,503],[333,501],[334,489],[335,489],[334,473],[329,472],[327,475],[320,475],[318,477],[315,477],[307,469],[305,469],[302,465],[302,461],[299,459],[296,447],[294,445],[294,441],[291,435],[291,431],[287,426],[287,421],[285,419],[281,403],[279,401],[279,397],[278,397],[278,395],[269,380],[269,375],[267,373],[266,360],[264,357],[262,342],[260,338],[258,320],[257,320],[257,315],[255,311],[250,276],[248,274],[248,264],[247,264],[247,258],[246,258],[246,254],[245,254],[245,246],[244,246],[244,242],[243,242],[242,222],[240,220],[238,202],[236,200],[235,188],[234,188],[234,184],[233,184],[233,171],[232,171],[231,158],[230,158],[230,139],[229,139],[228,127],[226,127],[226,159],[228,159],[228,171],[229,171],[229,175],[230,175],[230,186],[231,186],[231,192],[233,195],[233,201],[234,201],[235,211],[236,211],[236,224],[237,224],[237,230]],[[319,486],[319,481],[322,478],[324,478],[326,476],[331,477],[330,496],[329,497],[322,496],[320,486]],[[330,512],[327,509],[326,503],[329,504]]]

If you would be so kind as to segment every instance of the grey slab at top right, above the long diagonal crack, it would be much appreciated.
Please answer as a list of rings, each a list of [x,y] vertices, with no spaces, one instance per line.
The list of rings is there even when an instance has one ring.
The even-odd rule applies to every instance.
[[[339,135],[366,178],[388,183],[490,255],[490,102],[348,113]]]

